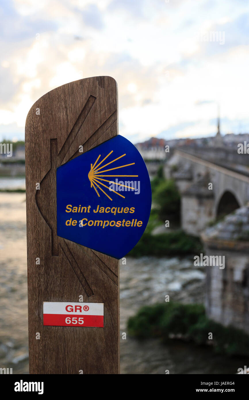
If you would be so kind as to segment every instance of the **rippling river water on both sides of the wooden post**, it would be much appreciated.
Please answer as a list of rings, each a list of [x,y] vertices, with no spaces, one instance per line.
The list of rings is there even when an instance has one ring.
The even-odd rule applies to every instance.
[[[28,373],[25,194],[0,193],[0,367]],[[120,363],[122,374],[235,374],[248,360],[214,355],[209,348],[172,340],[139,342],[126,322],[139,307],[164,302],[203,302],[205,274],[193,257],[143,257],[120,262]],[[247,362],[247,364],[246,364]]]

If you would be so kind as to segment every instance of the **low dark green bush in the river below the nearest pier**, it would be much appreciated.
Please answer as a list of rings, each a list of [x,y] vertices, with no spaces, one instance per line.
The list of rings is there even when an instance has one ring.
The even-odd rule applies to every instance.
[[[140,308],[128,320],[128,332],[139,339],[170,337],[192,341],[199,345],[209,344],[219,354],[249,356],[249,336],[232,326],[225,327],[205,316],[201,304],[168,302]],[[208,339],[212,332],[212,340]]]

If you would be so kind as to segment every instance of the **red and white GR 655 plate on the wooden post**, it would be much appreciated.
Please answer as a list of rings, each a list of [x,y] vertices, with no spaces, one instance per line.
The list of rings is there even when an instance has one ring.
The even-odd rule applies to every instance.
[[[104,303],[43,302],[45,326],[104,327]]]

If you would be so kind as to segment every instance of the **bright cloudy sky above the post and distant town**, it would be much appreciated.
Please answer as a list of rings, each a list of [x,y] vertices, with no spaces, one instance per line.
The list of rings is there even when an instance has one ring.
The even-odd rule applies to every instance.
[[[0,140],[80,78],[118,82],[131,142],[249,132],[248,0],[1,0]]]

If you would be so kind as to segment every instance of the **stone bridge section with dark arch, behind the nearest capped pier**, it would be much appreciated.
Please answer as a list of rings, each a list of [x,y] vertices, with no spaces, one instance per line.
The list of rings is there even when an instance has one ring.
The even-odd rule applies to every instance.
[[[211,151],[210,151],[211,150]],[[249,155],[237,149],[177,148],[164,167],[181,193],[181,225],[199,235],[249,201]]]

